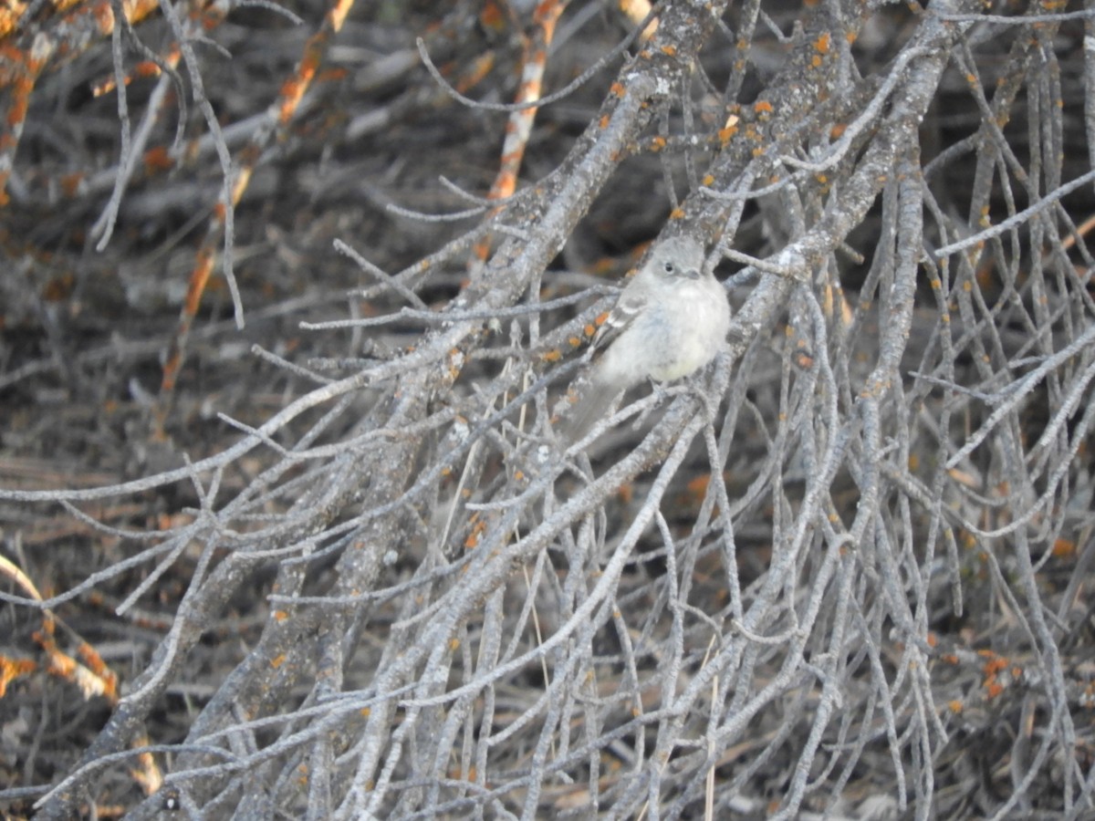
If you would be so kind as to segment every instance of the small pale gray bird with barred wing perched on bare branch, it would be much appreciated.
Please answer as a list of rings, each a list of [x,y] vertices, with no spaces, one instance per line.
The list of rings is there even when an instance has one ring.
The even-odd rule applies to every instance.
[[[726,289],[703,271],[703,246],[671,236],[655,246],[593,337],[593,359],[581,398],[563,421],[577,441],[613,400],[645,379],[671,382],[715,358],[730,327]]]

